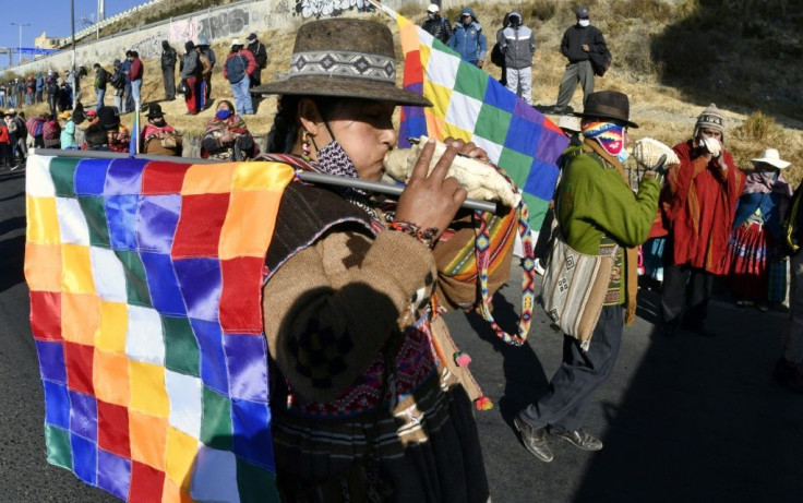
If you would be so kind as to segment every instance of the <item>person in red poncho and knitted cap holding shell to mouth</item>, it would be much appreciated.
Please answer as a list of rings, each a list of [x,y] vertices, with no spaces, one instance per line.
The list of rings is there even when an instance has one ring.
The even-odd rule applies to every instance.
[[[724,121],[715,104],[697,118],[694,137],[674,146],[681,163],[667,175],[661,211],[669,236],[664,249],[661,332],[683,328],[703,336],[714,276],[724,258],[744,175],[724,147]]]

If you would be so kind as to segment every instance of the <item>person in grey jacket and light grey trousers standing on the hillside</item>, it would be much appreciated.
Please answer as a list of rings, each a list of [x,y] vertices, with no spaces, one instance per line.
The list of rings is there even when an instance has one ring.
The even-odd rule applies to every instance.
[[[532,57],[536,35],[522,24],[522,14],[513,11],[505,16],[505,26],[496,33],[496,43],[505,57],[505,85],[532,105]]]

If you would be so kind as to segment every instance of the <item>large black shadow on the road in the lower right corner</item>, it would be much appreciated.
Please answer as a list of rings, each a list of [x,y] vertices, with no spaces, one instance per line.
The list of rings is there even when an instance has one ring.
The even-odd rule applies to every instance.
[[[784,316],[718,301],[708,322],[718,337],[649,335],[623,398],[602,404],[606,448],[573,501],[800,500],[803,399],[770,376]]]

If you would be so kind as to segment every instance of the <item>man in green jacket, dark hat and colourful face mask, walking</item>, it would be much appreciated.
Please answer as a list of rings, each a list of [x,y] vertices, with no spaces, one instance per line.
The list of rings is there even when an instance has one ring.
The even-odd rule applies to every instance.
[[[568,335],[563,340],[563,363],[546,395],[514,419],[525,447],[542,462],[552,460],[547,433],[585,451],[599,451],[602,442],[584,431],[583,417],[594,392],[613,370],[622,330],[636,314],[638,256],[636,247],[647,239],[658,209],[660,173],[651,170],[634,193],[622,161],[626,158],[630,121],[627,96],[615,91],[591,93],[582,118],[582,142],[564,152],[566,164],[558,189],[555,215],[571,248],[598,255],[619,245],[602,312],[588,349]]]

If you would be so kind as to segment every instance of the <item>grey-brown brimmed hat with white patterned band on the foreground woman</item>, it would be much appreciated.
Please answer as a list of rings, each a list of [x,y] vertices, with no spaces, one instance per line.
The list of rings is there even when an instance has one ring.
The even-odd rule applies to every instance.
[[[331,19],[301,25],[290,73],[251,89],[256,94],[335,96],[431,107],[418,93],[396,87],[391,29],[381,23]]]

